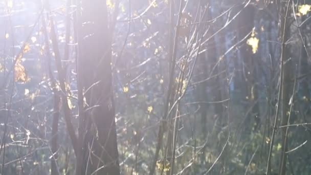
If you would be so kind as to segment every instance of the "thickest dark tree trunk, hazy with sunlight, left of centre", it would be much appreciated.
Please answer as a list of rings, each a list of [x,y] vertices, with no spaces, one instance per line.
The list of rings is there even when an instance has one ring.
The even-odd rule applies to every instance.
[[[82,0],[78,14],[79,154],[76,174],[120,174],[112,90],[112,35],[105,1]],[[86,91],[87,90],[87,91]],[[84,104],[81,100],[85,99]],[[89,108],[89,110],[81,110]],[[91,108],[91,109],[90,109]]]

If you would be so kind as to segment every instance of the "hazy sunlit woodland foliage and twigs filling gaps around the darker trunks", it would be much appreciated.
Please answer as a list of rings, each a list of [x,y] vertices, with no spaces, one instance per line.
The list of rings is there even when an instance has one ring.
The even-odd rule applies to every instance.
[[[171,170],[172,174],[263,174],[280,83],[282,28],[276,3],[181,1],[181,13],[180,0],[173,1],[172,8],[166,0],[106,1],[113,29],[111,65],[122,174],[149,173],[162,122],[165,133],[156,174]],[[66,7],[65,1],[50,1],[50,9],[42,9],[40,1],[0,2],[0,160],[4,160],[0,173],[50,173],[55,92],[66,94],[78,128],[74,2]],[[285,42],[286,62],[294,65],[291,83],[296,83],[290,90],[293,106],[290,111],[288,105],[286,153],[286,168],[293,174],[311,172],[310,3],[290,3],[290,39]],[[248,8],[253,14],[243,14]],[[49,15],[55,20],[67,92],[59,89]],[[252,20],[246,21],[251,15]],[[60,174],[74,174],[75,156],[62,116],[60,112],[57,166]],[[277,123],[279,127],[280,117]],[[283,146],[278,128],[272,172],[279,170]]]

